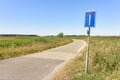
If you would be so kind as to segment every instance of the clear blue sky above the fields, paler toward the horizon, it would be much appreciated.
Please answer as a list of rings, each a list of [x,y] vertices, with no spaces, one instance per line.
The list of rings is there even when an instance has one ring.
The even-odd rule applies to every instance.
[[[0,0],[0,34],[86,35],[85,12],[96,11],[92,35],[120,35],[120,0]]]

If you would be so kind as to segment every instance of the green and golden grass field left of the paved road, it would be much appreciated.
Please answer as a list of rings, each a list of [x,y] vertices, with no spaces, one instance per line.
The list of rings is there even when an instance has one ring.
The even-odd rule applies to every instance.
[[[72,42],[62,37],[1,36],[0,60],[39,52]]]

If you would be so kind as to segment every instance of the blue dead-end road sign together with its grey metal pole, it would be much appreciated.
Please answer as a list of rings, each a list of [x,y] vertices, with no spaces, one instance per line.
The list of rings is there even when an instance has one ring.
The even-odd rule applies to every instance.
[[[89,62],[89,46],[90,46],[90,28],[95,27],[95,12],[86,12],[85,14],[85,27],[88,27],[88,46],[86,52],[86,65],[85,65],[85,73],[88,73],[88,62]]]

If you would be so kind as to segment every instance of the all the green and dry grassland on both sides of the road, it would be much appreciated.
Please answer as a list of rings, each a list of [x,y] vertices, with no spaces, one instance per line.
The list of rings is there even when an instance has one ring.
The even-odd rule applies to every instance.
[[[1,36],[0,59],[33,54],[55,48],[72,39],[85,40],[82,37],[38,37],[38,36]],[[120,37],[91,37],[88,74],[85,74],[85,53],[69,61],[53,77],[53,80],[119,80],[120,79]]]

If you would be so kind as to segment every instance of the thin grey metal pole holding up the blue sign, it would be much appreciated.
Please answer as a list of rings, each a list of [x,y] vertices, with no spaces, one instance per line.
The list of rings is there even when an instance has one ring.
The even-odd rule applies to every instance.
[[[90,27],[87,31],[88,34],[88,46],[87,46],[87,52],[86,52],[86,66],[85,66],[85,73],[88,73],[88,62],[89,62],[89,45],[90,45]]]

